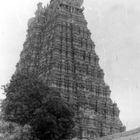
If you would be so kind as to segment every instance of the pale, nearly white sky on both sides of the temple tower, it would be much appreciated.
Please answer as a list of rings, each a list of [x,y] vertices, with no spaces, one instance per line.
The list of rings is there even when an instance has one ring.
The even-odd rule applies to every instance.
[[[40,0],[46,5],[49,0]],[[0,85],[15,71],[39,0],[0,0]],[[127,130],[140,127],[140,0],[85,0],[105,81]],[[0,90],[1,98],[2,90]]]

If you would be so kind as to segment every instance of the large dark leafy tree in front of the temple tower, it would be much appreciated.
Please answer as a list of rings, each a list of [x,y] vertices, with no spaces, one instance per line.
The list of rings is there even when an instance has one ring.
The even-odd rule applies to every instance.
[[[28,124],[40,140],[63,140],[74,135],[74,112],[60,94],[32,74],[16,74],[5,86],[2,112],[6,121]]]

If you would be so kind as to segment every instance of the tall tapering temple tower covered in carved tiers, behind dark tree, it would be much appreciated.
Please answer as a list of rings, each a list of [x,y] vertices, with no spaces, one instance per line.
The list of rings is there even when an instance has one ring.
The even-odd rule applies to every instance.
[[[28,22],[16,72],[33,72],[60,91],[76,108],[77,139],[87,140],[125,130],[117,104],[104,82],[83,0],[51,0],[38,4]]]

